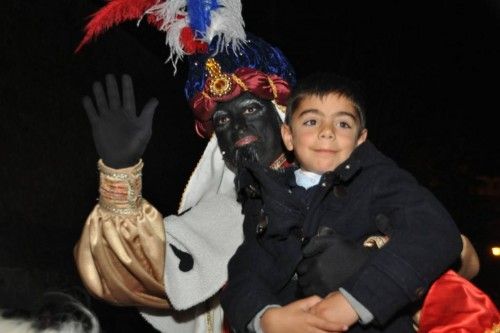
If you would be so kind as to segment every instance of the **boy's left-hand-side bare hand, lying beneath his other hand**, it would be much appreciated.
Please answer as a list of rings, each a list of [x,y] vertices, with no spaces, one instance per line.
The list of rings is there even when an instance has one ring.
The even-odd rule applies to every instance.
[[[270,308],[260,319],[265,333],[334,333],[347,331],[347,325],[319,318],[310,309],[321,302],[318,296],[311,296],[292,302],[284,307]]]

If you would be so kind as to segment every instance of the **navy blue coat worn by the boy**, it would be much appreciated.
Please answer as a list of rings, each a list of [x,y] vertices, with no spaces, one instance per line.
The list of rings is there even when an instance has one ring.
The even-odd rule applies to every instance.
[[[264,306],[297,299],[293,277],[301,245],[320,226],[362,242],[380,234],[380,219],[392,224],[390,241],[342,286],[375,320],[350,331],[413,331],[409,306],[422,299],[462,249],[454,221],[434,195],[369,141],[322,176],[310,203],[296,197],[293,169],[275,172],[254,166],[250,173],[261,189],[258,194],[240,191],[246,193],[245,239],[229,262],[221,295],[235,331],[244,332]],[[237,188],[255,188],[247,183],[237,177]]]

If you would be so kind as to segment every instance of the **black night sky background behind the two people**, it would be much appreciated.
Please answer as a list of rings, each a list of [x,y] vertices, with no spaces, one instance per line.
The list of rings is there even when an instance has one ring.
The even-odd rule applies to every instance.
[[[500,303],[500,2],[243,1],[246,29],[280,47],[300,77],[336,71],[369,91],[370,139],[446,205],[481,260],[473,280]],[[160,100],[143,195],[172,213],[205,141],[193,131],[184,66],[164,35],[112,28],[81,53],[97,0],[0,4],[0,301],[78,288],[72,247],[96,203],[98,173],[81,98],[129,73],[136,101]],[[495,182],[496,179],[496,182]],[[17,291],[23,285],[23,292]],[[7,292],[8,291],[8,292]],[[15,296],[13,296],[15,295]],[[3,305],[3,304],[0,304]],[[145,332],[133,309],[92,301],[106,332]]]

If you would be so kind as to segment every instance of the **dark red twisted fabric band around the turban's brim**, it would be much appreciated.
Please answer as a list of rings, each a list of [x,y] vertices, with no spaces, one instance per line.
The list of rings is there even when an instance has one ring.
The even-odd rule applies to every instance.
[[[275,99],[276,103],[286,105],[286,100],[290,94],[288,82],[277,75],[267,75],[253,68],[238,68],[234,74],[245,84],[248,91],[255,96],[263,99]],[[273,87],[269,83],[273,82],[276,89],[276,98]],[[198,135],[208,138],[213,132],[212,115],[218,102],[229,101],[244,92],[236,82],[233,82],[231,91],[226,95],[217,97],[211,96],[209,89],[210,79],[205,82],[203,92],[198,92],[191,99],[191,108],[193,109],[195,120],[195,129]]]

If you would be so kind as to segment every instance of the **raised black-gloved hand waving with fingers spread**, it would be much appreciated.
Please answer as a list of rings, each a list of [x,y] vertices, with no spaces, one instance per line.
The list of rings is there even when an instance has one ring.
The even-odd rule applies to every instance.
[[[158,105],[151,98],[137,116],[134,88],[129,75],[122,76],[122,99],[114,75],[106,75],[106,93],[101,82],[94,82],[95,102],[89,96],[82,100],[92,126],[97,154],[104,164],[115,169],[136,164],[151,138],[153,115]]]

